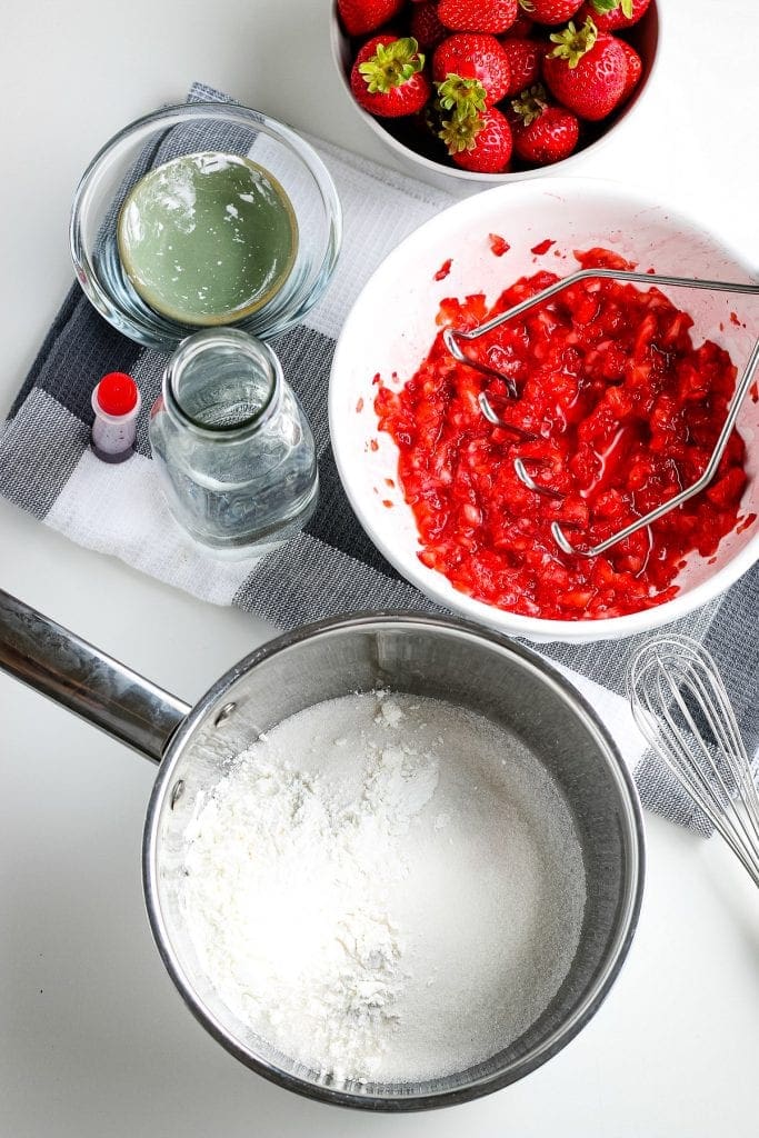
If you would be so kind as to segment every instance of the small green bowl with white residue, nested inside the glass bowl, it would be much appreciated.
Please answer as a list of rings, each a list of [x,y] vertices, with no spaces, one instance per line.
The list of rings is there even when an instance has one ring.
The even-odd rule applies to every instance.
[[[269,171],[208,150],[140,179],[118,215],[117,242],[146,304],[206,327],[242,320],[281,289],[295,263],[298,225]]]

